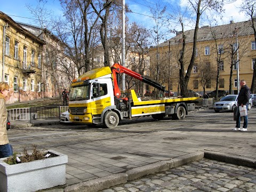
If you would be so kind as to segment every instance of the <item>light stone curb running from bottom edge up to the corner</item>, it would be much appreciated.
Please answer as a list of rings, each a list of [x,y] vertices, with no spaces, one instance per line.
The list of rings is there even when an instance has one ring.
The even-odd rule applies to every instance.
[[[160,161],[152,163],[149,165],[137,167],[126,171],[126,173],[117,173],[109,175],[107,177],[93,179],[90,181],[81,182],[75,185],[65,187],[65,192],[74,192],[74,191],[86,191],[86,192],[95,192],[103,189],[108,189],[123,183],[126,183],[129,180],[134,180],[141,178],[143,176],[154,174],[157,172],[167,171],[173,167],[180,166],[189,162],[197,161],[204,157],[203,151],[197,151],[195,153],[183,155],[180,157],[175,157],[169,161]]]

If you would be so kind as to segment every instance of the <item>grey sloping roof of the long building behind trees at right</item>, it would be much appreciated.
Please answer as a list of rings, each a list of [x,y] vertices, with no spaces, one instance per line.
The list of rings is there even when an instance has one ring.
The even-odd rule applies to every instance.
[[[256,23],[255,23],[256,25]],[[245,35],[253,35],[253,28],[252,28],[252,21],[242,21],[242,22],[230,22],[227,25],[221,25],[221,26],[204,26],[198,29],[197,34],[197,42],[203,42],[203,41],[213,41],[213,35],[215,34],[216,39],[220,38],[228,38],[231,36],[236,35],[236,29],[238,29],[238,36],[245,36]],[[186,36],[186,42],[187,43],[193,43],[194,38],[194,31],[195,29],[187,30],[185,31]],[[171,45],[177,45],[182,43],[182,33],[181,31],[177,33],[178,35],[165,41],[164,43],[159,44],[159,46],[169,46],[169,41]]]

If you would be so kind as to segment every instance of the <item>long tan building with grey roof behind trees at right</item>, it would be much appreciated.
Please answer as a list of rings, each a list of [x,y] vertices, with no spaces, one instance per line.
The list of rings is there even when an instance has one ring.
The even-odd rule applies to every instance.
[[[210,81],[204,85],[205,91],[215,90],[218,69],[219,90],[229,91],[231,85],[231,93],[237,93],[237,74],[240,80],[244,79],[247,85],[251,86],[256,61],[256,44],[251,25],[251,21],[237,23],[230,21],[227,25],[204,26],[198,29],[196,58],[188,89],[203,94],[202,79],[207,77]],[[185,70],[193,51],[193,36],[194,30],[185,31]],[[150,65],[156,60],[156,50],[156,47],[150,49]],[[175,37],[160,44],[158,50],[158,59],[165,66],[163,73],[170,68],[171,91],[177,93],[182,33],[179,32]],[[239,70],[237,70],[237,66],[239,66]],[[232,74],[231,78],[230,74]],[[166,87],[168,87],[167,83],[168,78],[165,79]]]

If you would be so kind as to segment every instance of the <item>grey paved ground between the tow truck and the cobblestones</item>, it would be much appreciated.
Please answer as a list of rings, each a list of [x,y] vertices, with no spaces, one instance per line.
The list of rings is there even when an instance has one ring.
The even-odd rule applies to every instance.
[[[191,125],[183,126],[185,121],[189,121]],[[167,171],[203,157],[256,167],[255,114],[250,114],[250,124],[254,127],[250,127],[250,131],[244,133],[230,130],[230,124],[234,124],[233,119],[225,119],[225,123],[207,123],[207,119],[202,122],[196,117],[185,121],[161,121],[157,124],[165,128],[157,132],[148,128],[147,131],[138,131],[138,125],[135,124],[129,127],[129,133],[118,129],[105,130],[104,134],[99,130],[83,131],[83,138],[74,140],[72,145],[53,148],[68,155],[67,185],[45,191],[94,192],[138,179],[143,175]],[[17,130],[21,127],[21,122],[11,123],[17,126]],[[56,126],[54,131],[64,131],[62,125],[58,129],[57,119],[37,122],[34,126],[38,125],[39,134],[39,126],[51,124]],[[143,124],[151,123],[149,121]],[[26,122],[22,125],[32,126]],[[42,129],[49,130],[49,133],[53,132],[50,126]],[[78,134],[78,131],[69,131],[65,134],[71,137]],[[98,139],[99,137],[105,138]],[[43,137],[38,139],[43,140]]]

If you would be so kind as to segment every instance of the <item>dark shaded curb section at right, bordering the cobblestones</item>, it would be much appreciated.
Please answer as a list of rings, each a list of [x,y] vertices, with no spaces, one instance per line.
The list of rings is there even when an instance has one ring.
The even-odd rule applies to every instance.
[[[242,165],[247,167],[256,167],[256,160],[248,157],[235,156],[220,152],[206,151],[204,150],[204,158],[231,163],[235,165]]]

